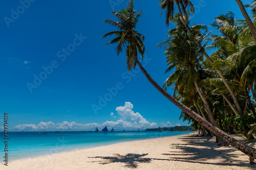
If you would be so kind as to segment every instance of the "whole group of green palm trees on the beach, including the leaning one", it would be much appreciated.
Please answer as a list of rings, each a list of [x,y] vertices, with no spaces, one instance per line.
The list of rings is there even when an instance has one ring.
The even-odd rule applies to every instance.
[[[216,135],[219,141],[239,149],[253,163],[256,149],[228,135],[243,132],[247,139],[253,138],[255,128],[251,125],[256,122],[256,29],[253,25],[256,20],[256,1],[245,6],[251,8],[253,21],[247,17],[241,1],[236,2],[246,20],[237,20],[231,11],[217,16],[210,26],[219,35],[211,34],[204,25],[189,26],[189,15],[194,13],[189,0],[160,2],[166,13],[166,26],[170,22],[176,26],[169,30],[167,40],[158,44],[165,50],[168,64],[166,72],[173,72],[164,82],[163,88],[138,60],[138,53],[143,59],[145,47],[144,36],[135,30],[142,13],[134,10],[133,0],[125,9],[112,12],[118,21],[104,20],[118,31],[105,34],[102,38],[115,35],[116,38],[107,44],[118,44],[117,55],[125,50],[127,68],[131,70],[138,64],[148,81],[182,109],[183,119],[192,121],[203,132],[208,131]],[[177,13],[174,11],[175,6]],[[216,51],[208,55],[208,49]],[[168,86],[173,86],[173,96],[167,93]]]

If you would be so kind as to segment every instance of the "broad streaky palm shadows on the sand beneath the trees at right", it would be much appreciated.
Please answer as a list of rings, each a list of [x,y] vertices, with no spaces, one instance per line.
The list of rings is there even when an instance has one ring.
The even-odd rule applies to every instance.
[[[221,148],[217,143],[214,141],[206,141],[206,138],[198,136],[181,137],[180,139],[186,142],[189,146],[180,147],[179,150],[176,151],[163,153],[162,155],[166,155],[170,158],[168,160],[212,165],[255,167],[255,165],[249,164],[249,157],[247,162],[235,159],[238,158],[236,154],[233,154],[234,151],[238,151],[236,148],[224,147],[225,150],[217,150],[218,148]],[[196,148],[197,146],[202,148]],[[241,155],[243,155],[242,152]],[[219,158],[222,159],[221,162],[208,162],[208,160]]]

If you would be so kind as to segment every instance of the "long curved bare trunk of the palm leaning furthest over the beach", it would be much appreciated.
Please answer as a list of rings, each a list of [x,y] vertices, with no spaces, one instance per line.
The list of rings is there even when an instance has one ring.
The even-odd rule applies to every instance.
[[[181,110],[183,110],[185,113],[187,113],[189,116],[194,118],[198,123],[200,123],[202,126],[206,127],[211,133],[214,135],[220,137],[225,142],[232,145],[234,148],[237,148],[247,156],[249,156],[250,163],[253,163],[253,160],[256,159],[256,149],[249,147],[242,142],[234,139],[233,137],[229,136],[227,133],[223,132],[216,126],[210,124],[206,119],[201,117],[199,114],[194,112],[193,110],[189,109],[179,101],[173,98],[172,95],[167,93],[162,87],[160,87],[152,78],[151,76],[146,72],[146,70],[143,68],[141,63],[139,62],[137,56],[134,58],[135,62],[139,65],[141,71],[146,76],[147,80],[159,91],[161,92],[170,102],[175,104],[177,107],[179,107]]]

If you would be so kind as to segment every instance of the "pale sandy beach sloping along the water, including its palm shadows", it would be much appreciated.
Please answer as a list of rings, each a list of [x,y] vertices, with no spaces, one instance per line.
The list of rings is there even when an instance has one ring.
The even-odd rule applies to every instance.
[[[240,139],[236,136],[237,139]],[[185,144],[170,146],[172,143]],[[256,147],[255,143],[249,144]],[[191,134],[124,142],[98,148],[10,161],[0,169],[255,169],[233,147]]]

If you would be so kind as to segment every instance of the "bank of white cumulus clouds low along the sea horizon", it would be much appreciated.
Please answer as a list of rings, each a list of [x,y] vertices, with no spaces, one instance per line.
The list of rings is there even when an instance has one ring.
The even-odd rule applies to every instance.
[[[150,123],[146,120],[140,113],[133,111],[133,104],[131,102],[125,102],[124,106],[119,106],[116,108],[118,116],[120,119],[116,122],[106,121],[103,124],[90,123],[90,124],[77,124],[76,122],[62,122],[62,123],[53,123],[53,122],[40,122],[38,125],[34,124],[24,124],[17,125],[12,128],[13,131],[42,131],[45,129],[47,131],[91,131],[98,127],[99,130],[103,129],[105,126],[108,128],[115,128],[116,130],[137,130],[146,129],[146,128],[158,128],[159,126],[152,122]],[[110,114],[114,116],[112,112]],[[116,116],[114,116],[116,117]],[[160,124],[161,127],[170,127],[171,123],[167,122],[165,125]]]

